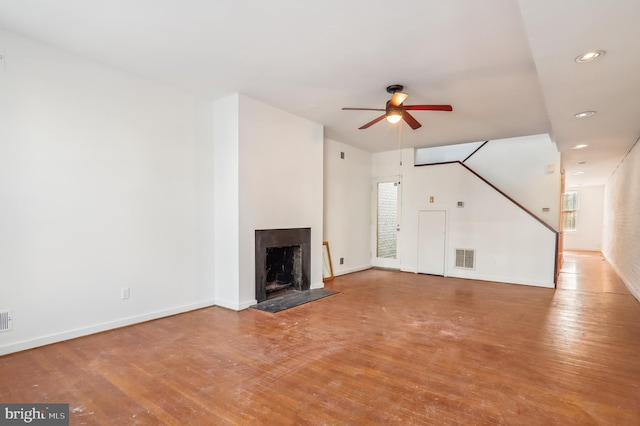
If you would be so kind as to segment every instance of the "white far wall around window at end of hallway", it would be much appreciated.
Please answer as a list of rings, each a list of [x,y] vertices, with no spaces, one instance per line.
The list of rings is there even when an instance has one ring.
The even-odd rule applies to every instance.
[[[604,186],[567,188],[578,193],[578,221],[575,231],[564,231],[565,250],[602,250]]]

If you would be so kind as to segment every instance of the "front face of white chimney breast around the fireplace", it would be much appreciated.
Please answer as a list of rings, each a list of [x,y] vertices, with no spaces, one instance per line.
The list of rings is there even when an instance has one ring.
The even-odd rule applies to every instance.
[[[311,288],[322,283],[323,127],[240,96],[239,307],[255,299],[255,230],[311,228]]]

